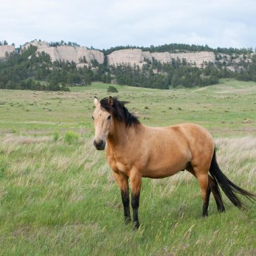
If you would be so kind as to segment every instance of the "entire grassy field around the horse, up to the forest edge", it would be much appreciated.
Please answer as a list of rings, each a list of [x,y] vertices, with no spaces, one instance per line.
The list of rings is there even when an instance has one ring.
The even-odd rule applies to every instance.
[[[106,84],[71,92],[0,91],[0,255],[255,255],[256,209],[201,193],[188,172],[143,179],[133,232],[104,152],[92,146],[93,98]],[[141,122],[193,122],[216,138],[217,159],[237,185],[256,191],[256,83],[150,90],[116,86]]]

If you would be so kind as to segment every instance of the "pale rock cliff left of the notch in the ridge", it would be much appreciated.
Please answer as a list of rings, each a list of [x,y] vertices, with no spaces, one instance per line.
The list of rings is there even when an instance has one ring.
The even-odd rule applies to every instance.
[[[103,53],[87,49],[86,46],[49,46],[47,42],[34,41],[25,44],[22,49],[24,50],[30,45],[36,46],[38,53],[44,52],[49,54],[52,61],[73,61],[74,63],[79,64],[79,59],[86,57],[87,63],[90,63],[91,61],[98,61],[98,63],[102,64],[104,62]]]

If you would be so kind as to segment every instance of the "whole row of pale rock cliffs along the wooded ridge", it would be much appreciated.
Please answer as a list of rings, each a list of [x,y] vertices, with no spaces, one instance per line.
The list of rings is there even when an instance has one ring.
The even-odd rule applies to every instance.
[[[102,52],[87,49],[85,46],[49,46],[48,42],[36,40],[25,44],[22,47],[22,51],[30,45],[36,46],[38,53],[45,52],[49,54],[52,61],[73,61],[77,66],[82,66],[85,64],[80,63],[79,59],[86,57],[87,63],[98,61],[98,63],[102,64],[104,62]],[[13,51],[15,51],[14,46],[0,46],[0,58],[4,58],[6,52],[11,53]],[[215,54],[209,51],[195,53],[150,53],[148,51],[141,51],[141,49],[123,49],[110,53],[106,58],[108,65],[129,64],[131,66],[139,65],[139,67],[142,67],[148,61],[152,62],[153,58],[161,63],[171,63],[172,59],[180,59],[181,61],[186,59],[187,63],[191,63],[197,67],[201,67],[204,62],[216,62]]]

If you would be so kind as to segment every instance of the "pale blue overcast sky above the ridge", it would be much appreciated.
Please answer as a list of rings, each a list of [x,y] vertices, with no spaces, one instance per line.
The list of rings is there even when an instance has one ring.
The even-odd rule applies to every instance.
[[[0,40],[256,46],[255,0],[0,0]]]

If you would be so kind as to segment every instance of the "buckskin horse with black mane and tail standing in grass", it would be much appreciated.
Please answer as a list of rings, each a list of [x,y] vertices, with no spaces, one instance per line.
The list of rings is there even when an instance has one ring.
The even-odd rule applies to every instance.
[[[107,144],[106,160],[121,190],[125,223],[131,222],[128,181],[131,185],[133,228],[136,230],[139,228],[141,178],[162,179],[181,170],[187,170],[198,180],[203,217],[208,214],[211,192],[218,212],[225,211],[219,187],[236,207],[244,205],[236,194],[255,202],[253,193],[232,183],[220,170],[214,139],[207,129],[193,123],[148,127],[129,113],[125,106],[127,103],[117,97],[110,96],[100,101],[95,97],[92,116],[94,146],[96,150],[104,150]]]

